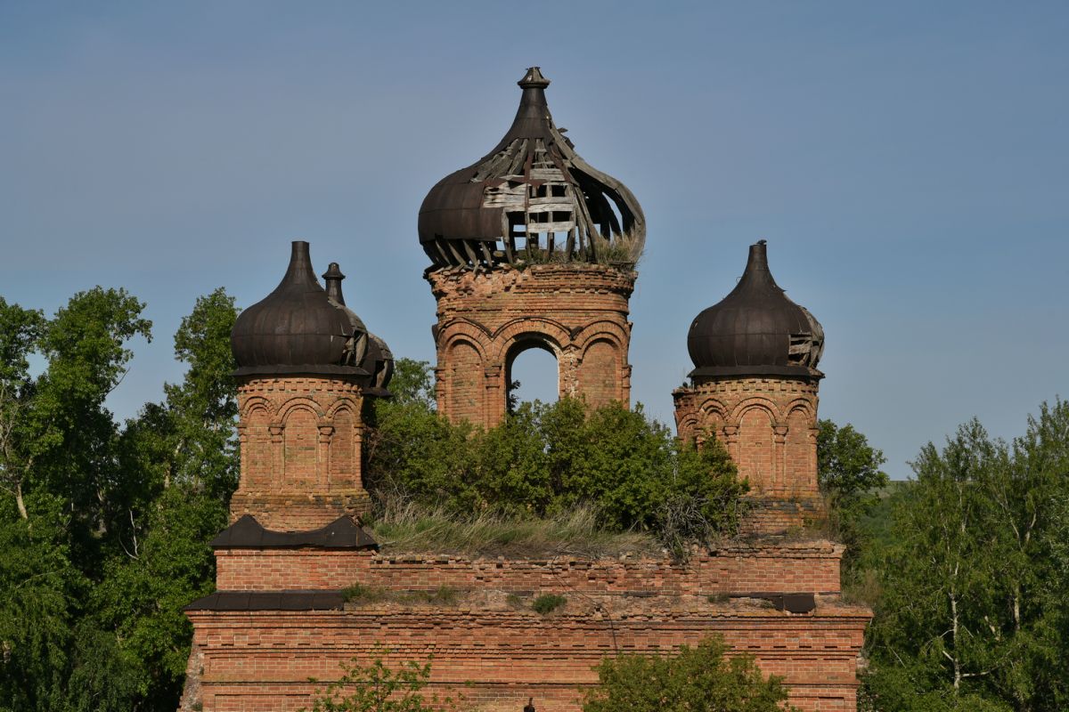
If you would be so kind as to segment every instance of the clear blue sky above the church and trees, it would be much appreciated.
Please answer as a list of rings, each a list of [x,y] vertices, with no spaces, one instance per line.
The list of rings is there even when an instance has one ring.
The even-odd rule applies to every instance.
[[[634,398],[670,422],[691,319],[765,238],[827,333],[821,414],[904,477],[973,415],[1012,437],[1069,396],[1066,37],[1065,2],[0,1],[0,295],[148,302],[122,415],[181,377],[193,300],[259,300],[291,239],[433,360],[420,201],[538,64],[649,222]]]

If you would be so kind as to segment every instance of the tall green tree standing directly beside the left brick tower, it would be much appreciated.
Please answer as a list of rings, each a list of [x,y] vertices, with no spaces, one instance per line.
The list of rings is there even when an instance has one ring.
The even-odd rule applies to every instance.
[[[235,318],[222,289],[197,300],[174,336],[175,358],[187,364],[182,382],[166,384],[166,400],[148,404],[122,432],[127,516],[90,608],[98,637],[113,638],[99,648],[124,670],[127,697],[112,692],[114,706],[96,709],[177,706],[192,636],[183,607],[214,589],[207,542],[226,527],[237,485]]]

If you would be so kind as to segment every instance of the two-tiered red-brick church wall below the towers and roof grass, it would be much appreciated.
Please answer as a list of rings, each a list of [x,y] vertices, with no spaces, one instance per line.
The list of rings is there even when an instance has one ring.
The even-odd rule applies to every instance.
[[[427,692],[464,695],[469,709],[518,710],[528,696],[544,712],[575,712],[593,667],[619,652],[666,653],[713,633],[786,678],[801,709],[855,709],[856,659],[868,610],[839,602],[842,548],[826,541],[734,545],[678,566],[667,559],[466,559],[372,552],[217,553],[220,585],[337,589],[360,583],[386,591],[452,588],[449,604],[357,599],[339,611],[193,612],[203,654],[205,712],[292,712],[338,664],[370,662],[375,646],[394,663],[434,655]],[[737,595],[824,594],[807,614]],[[530,602],[560,594],[548,616]],[[735,595],[735,596],[733,596]],[[322,683],[317,685],[322,687]]]

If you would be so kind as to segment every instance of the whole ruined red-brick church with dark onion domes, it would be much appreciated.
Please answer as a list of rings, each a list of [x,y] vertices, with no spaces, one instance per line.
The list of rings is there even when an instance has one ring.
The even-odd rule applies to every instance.
[[[437,300],[438,411],[487,427],[505,416],[513,361],[529,348],[555,355],[561,395],[629,404],[629,299],[646,236],[631,191],[554,124],[548,80],[532,67],[518,83],[505,138],[443,178],[419,210]],[[518,712],[533,697],[540,712],[571,712],[602,658],[668,653],[712,633],[783,676],[801,709],[856,709],[871,613],[840,600],[840,544],[786,536],[822,513],[824,335],[776,285],[766,253],[763,241],[749,247],[741,280],[686,338],[695,367],[672,393],[679,436],[719,439],[754,506],[742,536],[681,565],[379,553],[359,519],[370,508],[363,413],[368,399],[389,396],[392,355],[346,306],[338,265],[321,284],[308,243],[294,242],[281,283],[232,334],[241,484],[231,526],[212,541],[217,591],[187,607],[182,709],[310,707],[322,685],[309,678],[337,679],[339,663],[385,646],[398,662],[433,654],[427,692],[463,694],[472,709]],[[354,584],[464,597],[346,604]],[[507,604],[539,594],[569,604],[551,616]]]

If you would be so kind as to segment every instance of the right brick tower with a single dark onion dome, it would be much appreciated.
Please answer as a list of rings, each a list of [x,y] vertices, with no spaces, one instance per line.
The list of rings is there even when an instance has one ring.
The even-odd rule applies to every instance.
[[[824,332],[784,294],[764,240],[719,303],[691,325],[691,385],[677,389],[681,438],[715,437],[758,505],[752,526],[781,532],[820,513],[817,489],[817,370]]]

